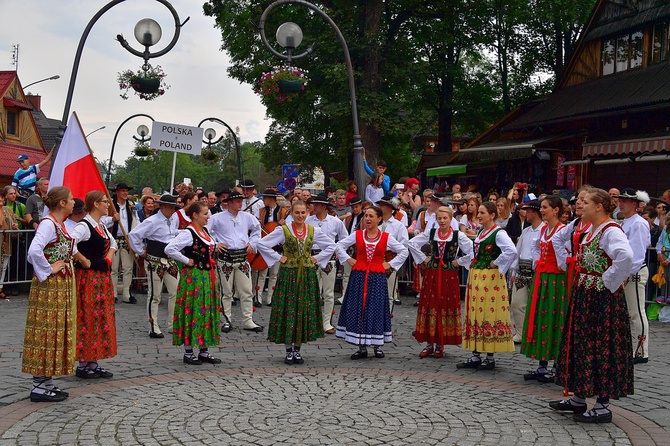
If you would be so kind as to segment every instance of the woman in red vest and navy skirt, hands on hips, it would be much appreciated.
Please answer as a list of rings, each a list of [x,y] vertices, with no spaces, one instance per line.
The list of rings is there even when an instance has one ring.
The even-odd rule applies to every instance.
[[[383,358],[381,347],[393,340],[391,310],[388,298],[386,272],[398,270],[409,255],[407,248],[386,232],[379,229],[382,211],[377,206],[365,210],[363,226],[337,243],[337,257],[349,262],[351,276],[347,286],[336,336],[350,344],[358,345],[351,359],[368,357],[368,345],[372,345],[376,358]],[[356,245],[356,258],[347,254],[347,248]],[[390,261],[384,261],[386,251],[396,253]]]

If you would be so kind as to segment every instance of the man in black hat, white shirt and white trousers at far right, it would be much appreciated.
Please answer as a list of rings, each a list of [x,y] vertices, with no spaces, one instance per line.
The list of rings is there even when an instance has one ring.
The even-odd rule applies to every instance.
[[[647,248],[651,245],[649,223],[637,213],[640,202],[649,203],[649,194],[631,188],[624,189],[620,195],[619,208],[623,214],[623,230],[633,250],[633,272],[626,283],[626,303],[630,315],[630,327],[633,336],[633,355],[635,364],[649,361],[649,321],[645,310],[645,286],[649,270],[645,263]]]

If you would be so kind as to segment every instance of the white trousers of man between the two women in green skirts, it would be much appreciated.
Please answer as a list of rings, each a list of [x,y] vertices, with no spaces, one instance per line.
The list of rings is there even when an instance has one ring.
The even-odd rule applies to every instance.
[[[251,267],[249,262],[224,263],[216,262],[217,275],[221,286],[221,308],[223,322],[232,324],[233,291],[240,298],[242,310],[242,328],[255,328],[258,325],[253,321],[254,306],[251,288]]]

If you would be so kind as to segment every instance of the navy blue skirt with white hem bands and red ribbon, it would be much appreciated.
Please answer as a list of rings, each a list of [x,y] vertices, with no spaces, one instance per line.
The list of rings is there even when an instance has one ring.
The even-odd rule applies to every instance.
[[[352,271],[337,321],[336,336],[350,344],[384,345],[393,341],[388,280],[384,273]]]

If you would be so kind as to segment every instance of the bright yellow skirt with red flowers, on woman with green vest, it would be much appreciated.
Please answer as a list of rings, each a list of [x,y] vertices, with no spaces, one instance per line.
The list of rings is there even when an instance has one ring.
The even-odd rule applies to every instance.
[[[482,353],[513,352],[505,275],[494,269],[468,274],[463,348]]]

